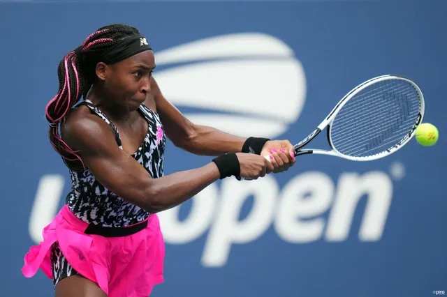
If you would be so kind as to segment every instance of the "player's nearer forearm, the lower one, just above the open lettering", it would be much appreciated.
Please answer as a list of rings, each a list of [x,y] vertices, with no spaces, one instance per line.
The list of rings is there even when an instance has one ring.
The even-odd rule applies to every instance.
[[[146,197],[142,208],[151,213],[173,208],[198,194],[208,185],[217,181],[219,177],[217,165],[210,162],[197,169],[154,178],[145,191]]]

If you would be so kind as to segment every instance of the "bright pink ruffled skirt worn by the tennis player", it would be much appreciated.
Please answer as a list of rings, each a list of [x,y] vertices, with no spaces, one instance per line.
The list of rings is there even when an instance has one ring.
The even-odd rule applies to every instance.
[[[129,236],[85,234],[88,225],[64,206],[43,229],[43,241],[25,255],[24,276],[32,277],[41,268],[52,279],[50,248],[59,242],[75,271],[96,282],[109,297],[149,296],[163,282],[165,248],[156,214],[149,215],[145,229]]]

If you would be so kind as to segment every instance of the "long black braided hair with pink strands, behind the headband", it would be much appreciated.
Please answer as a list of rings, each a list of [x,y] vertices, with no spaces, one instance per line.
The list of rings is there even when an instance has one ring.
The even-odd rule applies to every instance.
[[[122,38],[138,35],[138,29],[123,24],[111,24],[96,30],[77,49],[69,52],[59,63],[59,91],[45,109],[50,123],[48,135],[57,153],[69,168],[85,169],[77,152],[73,151],[61,137],[61,125],[68,113],[82,96],[87,96],[96,80],[96,64],[101,62],[101,53],[110,49]]]

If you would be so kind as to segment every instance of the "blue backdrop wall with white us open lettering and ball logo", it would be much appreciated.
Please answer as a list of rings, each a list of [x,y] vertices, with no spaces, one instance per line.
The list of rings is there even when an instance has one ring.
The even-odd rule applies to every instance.
[[[20,272],[70,187],[44,109],[60,59],[112,22],[147,36],[163,93],[198,123],[299,141],[354,86],[396,73],[420,85],[441,135],[374,162],[302,156],[161,213],[154,296],[443,294],[446,13],[446,1],[0,3],[2,296],[52,296],[42,272]],[[209,161],[169,143],[166,174]]]

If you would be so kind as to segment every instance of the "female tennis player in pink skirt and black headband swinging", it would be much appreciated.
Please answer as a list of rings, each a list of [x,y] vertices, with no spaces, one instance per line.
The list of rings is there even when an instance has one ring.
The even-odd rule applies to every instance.
[[[59,63],[59,91],[46,118],[72,188],[22,268],[26,277],[41,268],[57,297],[149,296],[163,282],[157,212],[219,179],[256,179],[295,163],[286,140],[235,137],[185,119],[163,98],[154,68],[146,38],[122,24],[98,29]],[[166,136],[217,157],[163,176]]]

